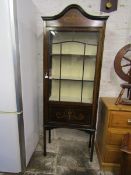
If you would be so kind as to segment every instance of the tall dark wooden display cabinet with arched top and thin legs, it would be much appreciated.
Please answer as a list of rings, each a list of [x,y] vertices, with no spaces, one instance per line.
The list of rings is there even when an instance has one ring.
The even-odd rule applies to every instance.
[[[108,17],[70,5],[44,21],[44,154],[46,130],[76,128],[90,133],[92,160]]]

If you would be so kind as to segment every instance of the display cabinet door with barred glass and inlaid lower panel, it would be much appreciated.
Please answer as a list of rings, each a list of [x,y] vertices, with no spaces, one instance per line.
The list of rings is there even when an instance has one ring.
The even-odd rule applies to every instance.
[[[47,33],[48,119],[90,125],[100,32],[51,29]]]

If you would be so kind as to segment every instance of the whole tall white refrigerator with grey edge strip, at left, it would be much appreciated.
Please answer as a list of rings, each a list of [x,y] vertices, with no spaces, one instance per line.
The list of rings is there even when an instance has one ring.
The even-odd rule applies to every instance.
[[[31,0],[0,1],[0,172],[24,171],[39,139],[34,12]]]

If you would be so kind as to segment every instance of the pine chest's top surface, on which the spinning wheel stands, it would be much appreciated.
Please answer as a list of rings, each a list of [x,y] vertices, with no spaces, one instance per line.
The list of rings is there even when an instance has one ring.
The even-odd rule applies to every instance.
[[[109,110],[115,111],[131,111],[130,105],[115,105],[116,98],[113,97],[101,97],[101,101]]]

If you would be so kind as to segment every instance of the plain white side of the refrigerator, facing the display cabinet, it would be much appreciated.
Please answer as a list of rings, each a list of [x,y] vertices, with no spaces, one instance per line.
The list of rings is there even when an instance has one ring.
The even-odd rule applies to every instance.
[[[28,164],[39,139],[36,9],[31,0],[18,0],[17,6],[26,164]]]

